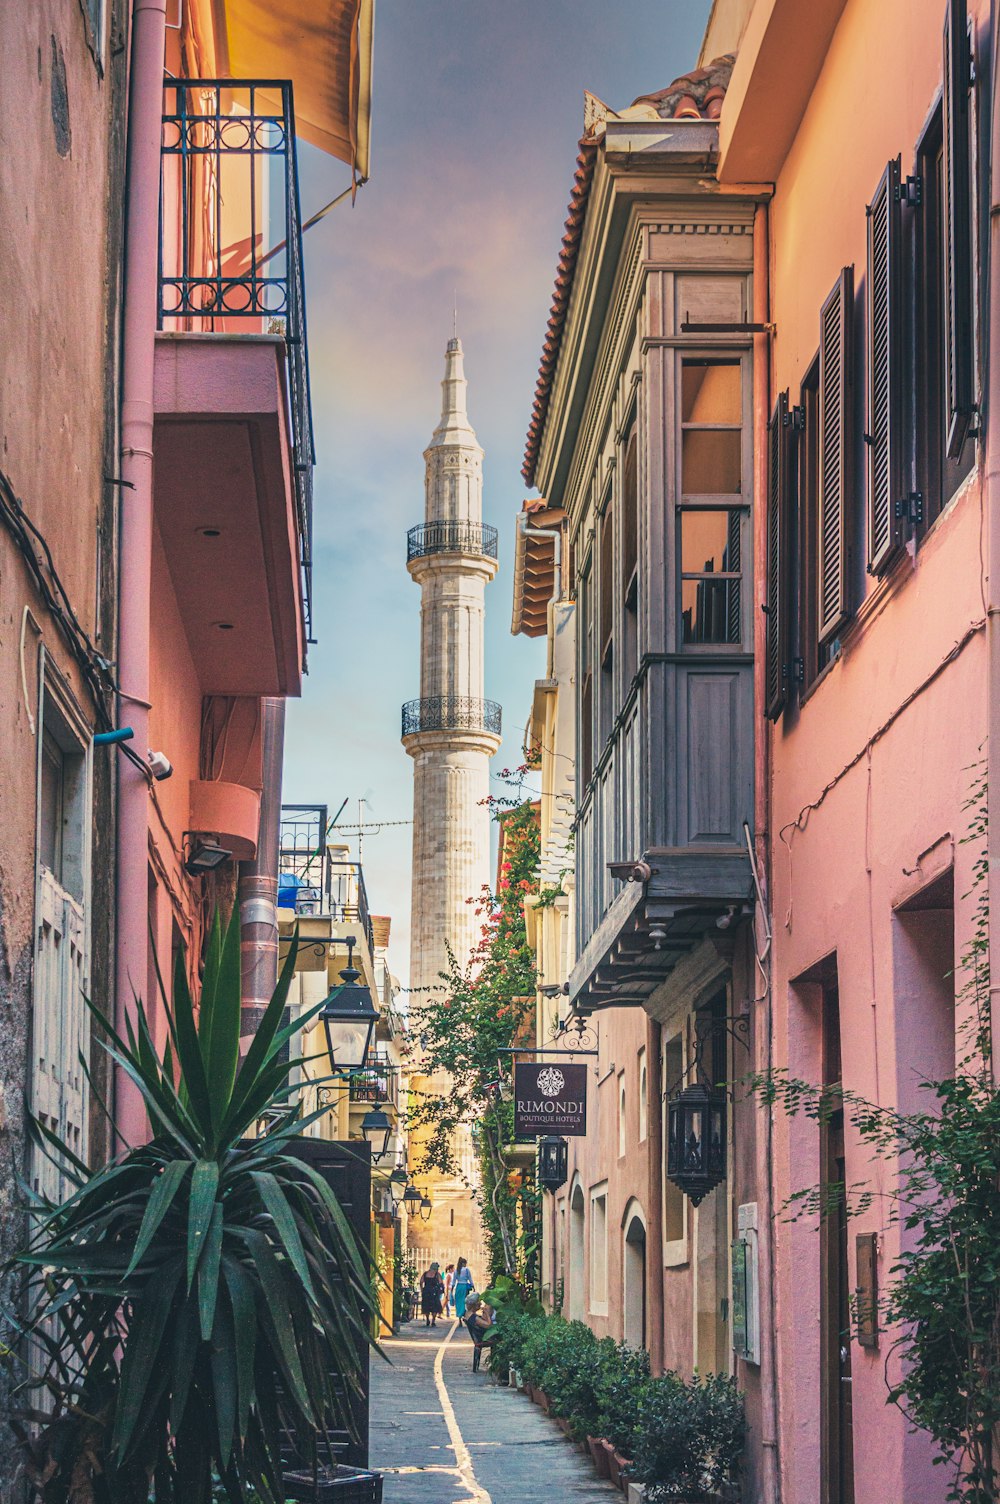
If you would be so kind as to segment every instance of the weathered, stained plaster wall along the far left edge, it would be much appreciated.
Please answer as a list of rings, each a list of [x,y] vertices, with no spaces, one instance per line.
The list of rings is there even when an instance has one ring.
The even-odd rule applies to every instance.
[[[105,8],[104,38],[89,35],[83,6],[39,0],[0,9],[0,471],[51,549],[72,611],[108,659],[126,9],[125,0]],[[15,1175],[23,1170],[32,997],[39,642],[93,720],[80,672],[0,526],[0,1257],[24,1229]],[[96,752],[90,985],[98,1002],[113,990],[113,793],[114,754]],[[104,1086],[96,1047],[92,1066]],[[95,1108],[92,1158],[107,1148]],[[12,1475],[2,1436],[2,1498]]]

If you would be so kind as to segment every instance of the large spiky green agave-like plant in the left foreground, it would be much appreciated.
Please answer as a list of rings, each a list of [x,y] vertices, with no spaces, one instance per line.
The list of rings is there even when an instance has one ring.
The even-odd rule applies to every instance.
[[[352,1424],[370,1259],[295,1155],[319,1114],[289,1086],[287,1045],[311,1017],[281,1026],[293,969],[295,945],[241,1065],[239,922],[223,934],[217,917],[197,1012],[177,960],[161,1053],[141,1003],[126,1038],[92,1008],[150,1142],[92,1173],[33,1125],[72,1187],[62,1205],[35,1199],[8,1271],[20,1361],[33,1355],[15,1424],[45,1504],[205,1504],[214,1478],[232,1499],[283,1498],[283,1432]]]

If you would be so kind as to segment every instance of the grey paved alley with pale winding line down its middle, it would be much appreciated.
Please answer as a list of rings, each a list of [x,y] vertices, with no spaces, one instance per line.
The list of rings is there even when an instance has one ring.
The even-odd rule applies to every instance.
[[[465,1327],[402,1328],[371,1360],[371,1466],[385,1504],[597,1504],[623,1495],[523,1394],[472,1373]]]

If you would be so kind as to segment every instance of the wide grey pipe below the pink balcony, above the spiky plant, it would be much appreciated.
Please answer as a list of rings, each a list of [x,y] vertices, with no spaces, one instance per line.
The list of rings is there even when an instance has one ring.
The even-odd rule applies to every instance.
[[[278,830],[281,824],[281,760],[284,701],[262,702],[263,790],[257,856],[239,863],[239,934],[242,1003],[239,1035],[247,1048],[257,1033],[278,981]]]

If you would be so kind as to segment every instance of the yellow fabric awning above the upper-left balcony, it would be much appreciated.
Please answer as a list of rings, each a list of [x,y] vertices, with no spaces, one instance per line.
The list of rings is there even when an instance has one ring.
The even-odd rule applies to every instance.
[[[290,78],[298,135],[367,177],[374,0],[223,0],[218,11],[220,74]]]

